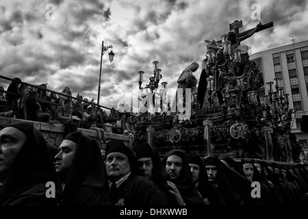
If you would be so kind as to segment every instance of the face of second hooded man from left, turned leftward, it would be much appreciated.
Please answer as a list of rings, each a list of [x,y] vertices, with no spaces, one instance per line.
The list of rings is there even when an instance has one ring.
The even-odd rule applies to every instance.
[[[60,152],[55,155],[55,170],[57,173],[66,176],[77,149],[77,144],[70,140],[64,140],[60,146]]]

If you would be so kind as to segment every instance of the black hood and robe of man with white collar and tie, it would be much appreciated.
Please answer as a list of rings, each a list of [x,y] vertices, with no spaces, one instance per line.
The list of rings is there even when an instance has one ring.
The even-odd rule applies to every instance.
[[[108,175],[110,184],[109,198],[113,205],[168,205],[164,192],[159,190],[153,181],[138,175],[136,152],[133,149],[120,140],[108,142],[106,144],[107,171],[108,168],[119,169],[116,158],[110,157],[112,156],[110,153],[122,153],[127,156],[130,166],[130,171],[120,179]]]

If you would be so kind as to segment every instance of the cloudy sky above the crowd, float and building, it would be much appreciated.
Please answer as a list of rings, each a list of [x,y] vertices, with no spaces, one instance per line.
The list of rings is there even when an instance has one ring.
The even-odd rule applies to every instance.
[[[114,62],[108,60],[111,49],[103,55],[100,104],[117,107],[132,95],[138,70],[149,82],[154,60],[168,92],[175,92],[181,71],[200,57],[198,79],[204,40],[220,40],[235,20],[243,22],[240,31],[274,23],[242,42],[256,53],[290,44],[290,36],[307,40],[307,14],[305,0],[0,0],[0,75],[48,83],[57,92],[69,86],[73,96],[79,92],[97,101],[104,41],[116,55]]]

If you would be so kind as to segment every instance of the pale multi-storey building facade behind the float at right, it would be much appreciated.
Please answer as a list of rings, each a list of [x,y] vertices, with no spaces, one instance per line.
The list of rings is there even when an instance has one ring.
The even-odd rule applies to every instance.
[[[254,53],[250,59],[263,73],[264,84],[278,79],[279,87],[289,94],[294,133],[308,153],[308,133],[300,131],[302,116],[308,115],[308,40]],[[267,94],[266,86],[264,90]],[[308,125],[308,124],[307,124]]]

